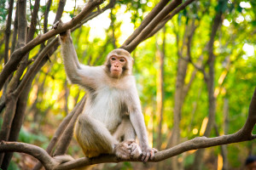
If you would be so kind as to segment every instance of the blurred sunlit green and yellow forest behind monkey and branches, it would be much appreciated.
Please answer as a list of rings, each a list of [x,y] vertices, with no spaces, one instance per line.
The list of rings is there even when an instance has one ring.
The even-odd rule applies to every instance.
[[[0,3],[0,71],[19,45],[15,32],[18,2],[13,2],[10,25],[8,21],[12,2],[1,0]],[[25,22],[28,26],[32,22],[35,2],[26,1]],[[83,0],[38,2],[34,37],[52,29],[61,3],[64,5],[61,16],[64,23],[79,14],[85,3]],[[104,2],[101,7],[111,2]],[[105,56],[125,42],[157,3],[159,1],[154,0],[114,1],[111,8],[101,11],[102,14],[99,12],[73,31],[79,61],[85,65],[102,65]],[[131,53],[135,59],[133,74],[150,145],[165,150],[198,136],[236,133],[243,126],[256,84],[255,13],[256,2],[253,0],[195,1]],[[34,62],[38,51],[46,44],[30,51],[26,65]],[[28,98],[25,98],[24,122],[18,130],[18,141],[44,149],[63,118],[73,111],[85,94],[84,89],[67,82],[60,48],[56,47],[53,52],[32,80]],[[20,80],[25,72],[26,69],[21,72]],[[7,108],[4,103],[8,90],[6,84],[0,92],[1,124]],[[207,129],[209,124],[212,126]],[[256,133],[255,127],[253,133]],[[67,154],[75,158],[83,156],[74,139]],[[249,155],[256,155],[255,141],[215,146],[201,150],[201,153],[190,150],[158,163],[110,163],[93,168],[243,169]],[[22,153],[11,157],[9,169],[32,169],[37,163],[32,156]]]

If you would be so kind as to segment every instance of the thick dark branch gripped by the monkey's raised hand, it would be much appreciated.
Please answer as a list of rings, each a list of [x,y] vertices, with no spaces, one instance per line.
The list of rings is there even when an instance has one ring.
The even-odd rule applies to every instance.
[[[68,29],[73,28],[73,26],[78,25],[79,22],[83,20],[85,16],[90,14],[90,12],[94,8],[96,8],[96,6],[100,5],[103,2],[104,0],[90,0],[88,3],[86,3],[82,12],[79,13],[76,17],[74,17],[73,20],[70,20],[69,22],[61,26],[58,26],[55,30],[53,29],[43,35],[39,35],[38,37],[34,38],[31,42],[28,42],[26,46],[15,50],[15,52],[10,57],[11,59],[9,59],[8,63],[4,65],[3,71],[0,74],[0,89],[3,88],[4,82],[8,79],[9,75],[16,70],[17,66],[20,63],[20,60],[23,59],[27,52],[29,52],[32,48],[35,48],[41,42],[48,40],[50,37],[54,37],[62,31],[67,31]]]

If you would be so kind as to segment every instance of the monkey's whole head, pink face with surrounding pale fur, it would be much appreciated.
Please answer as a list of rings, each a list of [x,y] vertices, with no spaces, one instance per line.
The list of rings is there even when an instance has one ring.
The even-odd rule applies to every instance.
[[[110,77],[120,78],[131,75],[133,59],[128,51],[117,48],[106,59],[106,71]]]

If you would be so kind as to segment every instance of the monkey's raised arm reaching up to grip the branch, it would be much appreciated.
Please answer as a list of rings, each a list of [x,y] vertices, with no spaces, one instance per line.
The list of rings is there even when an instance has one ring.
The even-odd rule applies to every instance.
[[[68,79],[72,83],[82,85],[84,88],[96,88],[96,78],[99,77],[99,72],[102,69],[79,63],[70,31],[61,33],[60,37],[61,54]]]

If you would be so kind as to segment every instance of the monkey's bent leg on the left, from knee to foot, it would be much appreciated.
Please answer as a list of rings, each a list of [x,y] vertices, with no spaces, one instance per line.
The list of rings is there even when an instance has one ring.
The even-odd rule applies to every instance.
[[[74,132],[85,156],[115,154],[124,159],[131,156],[130,144],[119,143],[102,122],[88,115],[79,116]]]

